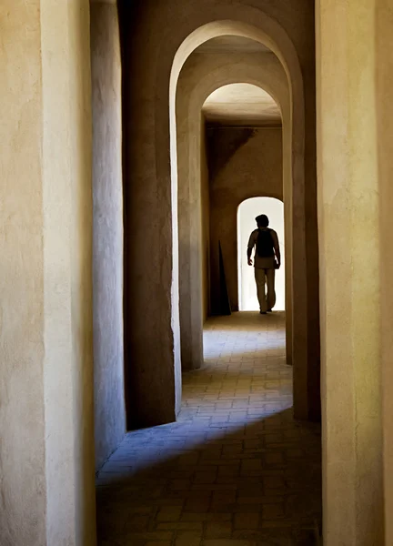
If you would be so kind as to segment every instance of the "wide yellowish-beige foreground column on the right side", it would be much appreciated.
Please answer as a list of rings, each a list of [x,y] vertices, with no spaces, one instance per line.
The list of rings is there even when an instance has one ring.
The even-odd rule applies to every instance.
[[[324,544],[373,546],[386,543],[375,2],[317,8]]]

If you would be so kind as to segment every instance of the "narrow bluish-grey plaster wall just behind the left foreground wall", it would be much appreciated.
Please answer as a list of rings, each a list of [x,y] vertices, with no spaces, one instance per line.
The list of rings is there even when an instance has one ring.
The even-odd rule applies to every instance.
[[[124,438],[121,59],[116,4],[90,7],[96,469]]]

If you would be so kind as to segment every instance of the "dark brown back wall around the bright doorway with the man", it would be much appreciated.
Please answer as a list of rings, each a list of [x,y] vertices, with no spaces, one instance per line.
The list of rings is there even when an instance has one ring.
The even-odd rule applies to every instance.
[[[219,309],[218,241],[231,306],[238,310],[237,207],[249,197],[283,198],[281,128],[208,130],[212,312]],[[246,249],[245,249],[246,252]]]

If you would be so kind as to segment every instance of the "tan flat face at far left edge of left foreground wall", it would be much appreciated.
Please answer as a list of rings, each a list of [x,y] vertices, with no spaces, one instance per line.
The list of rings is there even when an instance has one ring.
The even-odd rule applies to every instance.
[[[39,2],[26,5],[9,0],[2,3],[0,17],[0,58],[6,75],[0,82],[0,543],[5,546],[23,546],[29,541],[32,546],[45,544],[43,127],[38,8]]]

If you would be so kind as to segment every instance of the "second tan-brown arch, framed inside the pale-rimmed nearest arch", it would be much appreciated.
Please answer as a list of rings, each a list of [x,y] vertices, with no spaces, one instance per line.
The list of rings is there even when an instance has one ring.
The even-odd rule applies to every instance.
[[[176,117],[179,126],[177,127],[176,147],[178,156],[181,157],[177,163],[180,204],[178,211],[179,270],[181,271],[179,291],[181,294],[180,331],[184,369],[198,368],[203,361],[202,295],[199,278],[200,268],[198,267],[201,258],[198,237],[200,230],[198,229],[198,221],[200,221],[200,202],[198,200],[198,196],[200,196],[200,161],[195,157],[199,157],[198,150],[201,146],[200,112],[211,93],[221,86],[242,82],[263,88],[276,100],[286,121],[283,156],[287,158],[285,169],[287,186],[291,185],[290,106],[286,75],[274,55],[267,56],[266,60],[258,56],[253,61],[247,60],[247,55],[231,57],[234,58],[224,64],[221,56],[215,61],[211,60],[210,63],[198,64],[196,61],[188,63],[182,71],[177,86]],[[189,76],[192,76],[191,79]],[[234,218],[232,219],[234,220]],[[194,233],[190,233],[191,226],[194,227]],[[214,257],[212,257],[212,264],[214,271],[216,269]],[[289,273],[288,271],[288,275]],[[288,319],[290,334],[290,310]],[[290,339],[290,335],[288,339]],[[290,344],[288,345],[290,357]]]

